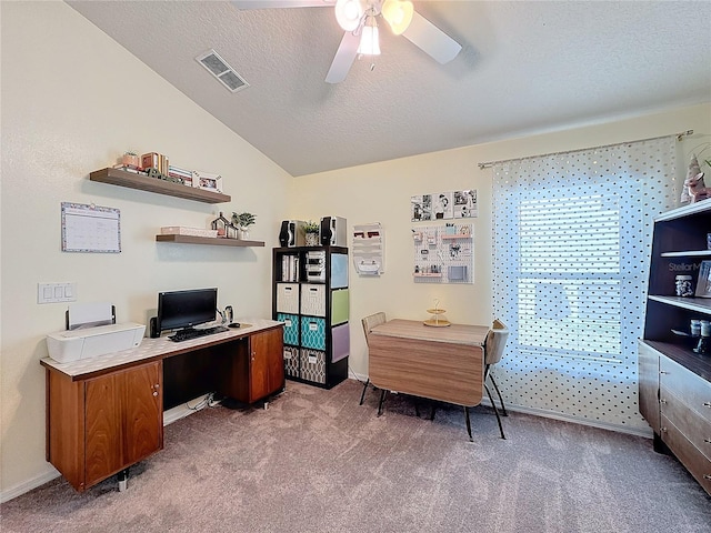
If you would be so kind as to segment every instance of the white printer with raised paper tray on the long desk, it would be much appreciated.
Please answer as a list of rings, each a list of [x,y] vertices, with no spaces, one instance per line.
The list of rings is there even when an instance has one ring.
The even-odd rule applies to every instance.
[[[138,348],[146,325],[134,322],[114,324],[108,303],[72,304],[67,311],[67,330],[47,335],[49,356],[60,363],[91,359]]]

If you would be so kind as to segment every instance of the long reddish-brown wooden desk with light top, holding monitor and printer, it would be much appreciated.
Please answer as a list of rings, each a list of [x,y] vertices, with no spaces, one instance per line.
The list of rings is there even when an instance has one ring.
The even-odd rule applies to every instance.
[[[184,342],[143,339],[136,349],[77,362],[42,359],[47,461],[82,492],[162,450],[163,385],[177,375],[164,372],[173,361],[199,359],[210,370],[210,390],[243,403],[283,389],[282,330],[281,322],[250,320]]]

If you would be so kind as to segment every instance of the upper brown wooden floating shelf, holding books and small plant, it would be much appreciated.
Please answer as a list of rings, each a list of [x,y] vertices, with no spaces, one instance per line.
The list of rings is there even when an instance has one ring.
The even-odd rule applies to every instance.
[[[224,203],[232,200],[229,194],[222,194],[221,192],[206,191],[197,187],[188,187],[119,169],[107,168],[96,170],[89,174],[89,179],[101,183],[110,183],[112,185],[138,189],[139,191],[154,192],[157,194],[183,198],[203,203]]]

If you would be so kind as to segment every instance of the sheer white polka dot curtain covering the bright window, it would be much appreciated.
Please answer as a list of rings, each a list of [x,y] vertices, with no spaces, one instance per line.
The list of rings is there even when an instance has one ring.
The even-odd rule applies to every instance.
[[[495,163],[493,294],[504,401],[647,429],[637,402],[653,217],[674,207],[675,137]]]

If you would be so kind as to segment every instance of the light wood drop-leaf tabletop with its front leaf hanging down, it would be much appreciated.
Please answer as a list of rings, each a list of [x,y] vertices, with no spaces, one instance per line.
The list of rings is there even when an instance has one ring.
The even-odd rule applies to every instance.
[[[432,328],[413,320],[388,321],[373,328],[368,340],[370,381],[383,391],[479,405],[488,332],[484,325]]]

